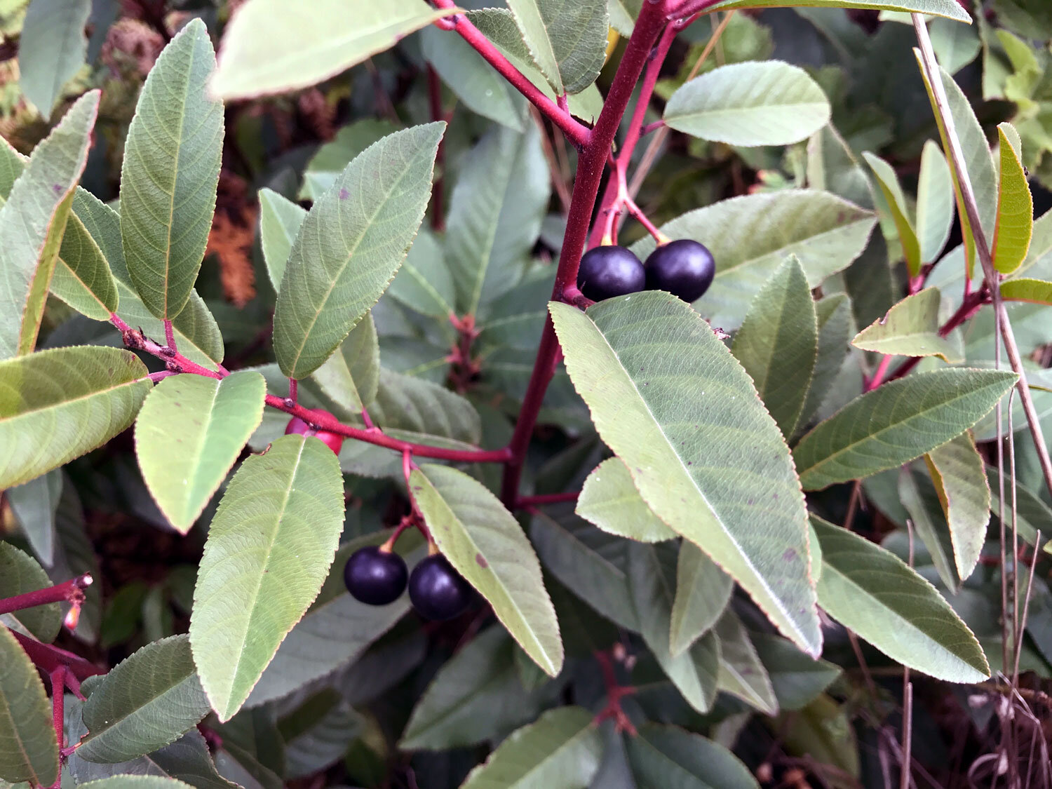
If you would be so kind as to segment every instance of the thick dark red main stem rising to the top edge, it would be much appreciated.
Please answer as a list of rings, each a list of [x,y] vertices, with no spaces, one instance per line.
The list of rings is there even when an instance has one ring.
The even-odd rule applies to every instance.
[[[647,0],[643,3],[635,28],[632,31],[632,37],[628,40],[625,54],[618,66],[618,73],[614,75],[613,83],[610,85],[610,90],[603,104],[603,112],[600,113],[588,144],[578,159],[573,195],[570,198],[566,234],[563,237],[563,250],[559,256],[559,269],[555,271],[555,283],[552,288],[551,298],[555,301],[564,300],[564,292],[567,288],[574,287],[576,284],[581,250],[588,238],[588,224],[595,207],[603,168],[610,155],[610,146],[613,144],[614,135],[621,125],[621,119],[625,115],[625,108],[628,106],[640,75],[650,58],[650,50],[665,27],[665,12],[666,2],[664,0],[659,0],[659,2]],[[643,96],[640,100],[643,101],[644,98],[649,100],[649,97]],[[519,421],[515,423],[511,442],[508,444],[511,458],[504,467],[504,479],[501,484],[501,498],[505,504],[513,504],[518,498],[519,479],[522,476],[526,449],[537,424],[544,392],[555,372],[558,351],[559,341],[551,324],[551,317],[548,316],[544,323],[544,332],[541,335],[541,345],[533,363],[533,371],[530,373],[526,394],[523,397]]]

